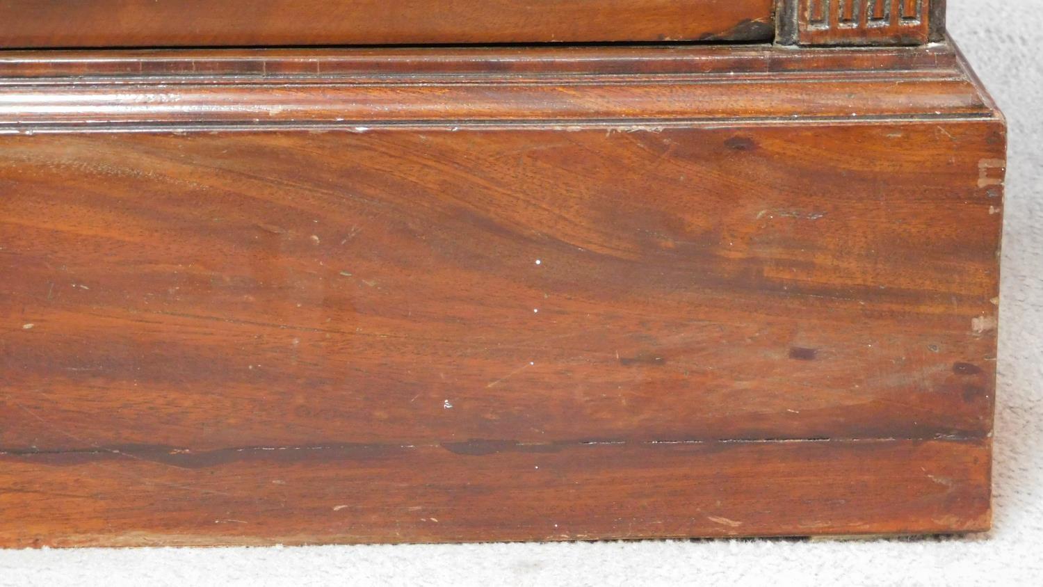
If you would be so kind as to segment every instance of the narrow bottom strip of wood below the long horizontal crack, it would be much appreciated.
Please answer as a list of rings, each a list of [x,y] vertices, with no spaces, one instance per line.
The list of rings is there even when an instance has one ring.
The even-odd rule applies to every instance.
[[[985,440],[0,455],[0,544],[922,534],[990,523]]]

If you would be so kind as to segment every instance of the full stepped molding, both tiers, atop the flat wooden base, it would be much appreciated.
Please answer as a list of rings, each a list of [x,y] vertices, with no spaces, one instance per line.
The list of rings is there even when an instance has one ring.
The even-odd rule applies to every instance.
[[[835,52],[831,51],[760,48],[736,55],[720,49],[631,48],[603,60],[593,57],[596,53],[589,49],[533,51],[538,58],[523,65],[511,60],[529,54],[523,49],[342,50],[323,57],[333,64],[329,72],[312,74],[301,73],[299,67],[307,57],[296,52],[167,55],[163,68],[171,72],[179,69],[178,64],[191,63],[196,72],[200,64],[215,65],[203,68],[212,76],[207,79],[183,73],[114,74],[101,64],[126,65],[122,57],[106,60],[96,53],[62,67],[60,62],[47,62],[47,55],[41,53],[8,54],[0,59],[0,72],[4,73],[0,77],[0,129],[856,120],[985,117],[992,113],[988,99],[948,47],[895,50],[882,57],[878,52],[866,53],[866,64],[855,63],[847,69],[834,69],[841,65],[833,60]],[[403,60],[392,67],[382,55]],[[231,62],[228,57],[233,57]],[[237,60],[240,58],[243,60]],[[504,66],[505,62],[498,59],[513,65]],[[264,71],[249,74],[258,63]],[[375,68],[382,63],[387,74],[377,75]],[[741,67],[728,69],[736,63]],[[153,66],[163,69],[148,60],[144,64],[143,70]],[[522,69],[513,70],[515,66]],[[768,71],[773,68],[778,71]],[[278,73],[264,73],[271,71]],[[79,75],[67,75],[73,72]]]

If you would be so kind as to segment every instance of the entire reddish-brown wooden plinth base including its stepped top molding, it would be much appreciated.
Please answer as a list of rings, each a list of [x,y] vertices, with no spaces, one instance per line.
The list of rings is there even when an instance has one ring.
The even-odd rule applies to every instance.
[[[986,530],[948,44],[0,57],[0,544]]]

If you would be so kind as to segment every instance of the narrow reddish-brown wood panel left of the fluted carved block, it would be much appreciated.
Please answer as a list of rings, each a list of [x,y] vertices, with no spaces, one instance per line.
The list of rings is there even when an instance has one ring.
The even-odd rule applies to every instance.
[[[770,41],[775,0],[0,0],[0,47]]]

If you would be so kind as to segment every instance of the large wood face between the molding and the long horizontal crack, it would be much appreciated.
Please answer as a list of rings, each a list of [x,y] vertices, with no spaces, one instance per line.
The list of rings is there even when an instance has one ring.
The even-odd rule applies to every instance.
[[[985,434],[942,124],[6,137],[3,446]]]

